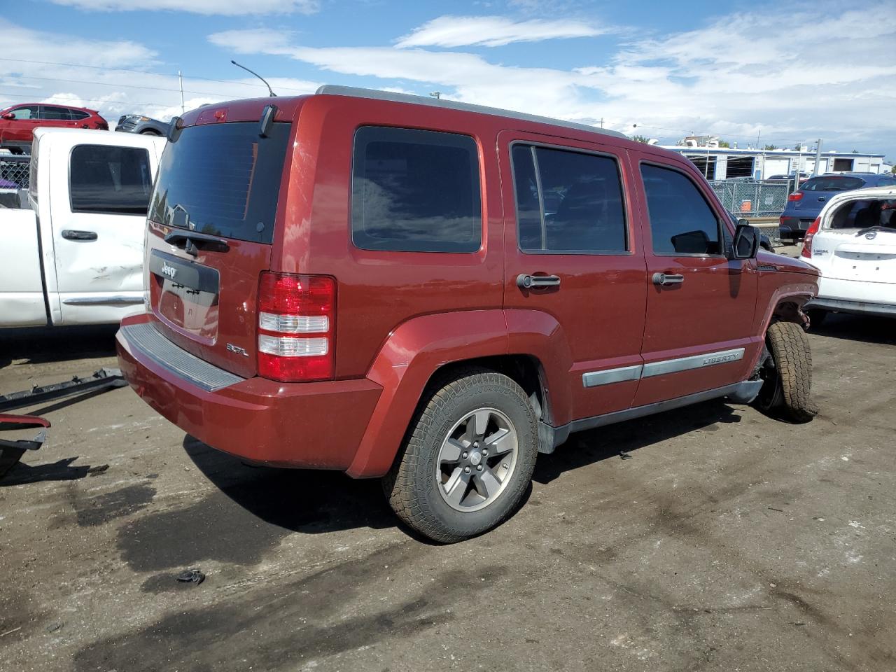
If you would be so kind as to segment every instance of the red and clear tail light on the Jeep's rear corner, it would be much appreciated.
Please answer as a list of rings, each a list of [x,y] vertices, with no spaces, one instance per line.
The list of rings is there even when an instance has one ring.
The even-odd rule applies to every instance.
[[[262,273],[258,285],[258,374],[284,383],[333,377],[336,281]]]

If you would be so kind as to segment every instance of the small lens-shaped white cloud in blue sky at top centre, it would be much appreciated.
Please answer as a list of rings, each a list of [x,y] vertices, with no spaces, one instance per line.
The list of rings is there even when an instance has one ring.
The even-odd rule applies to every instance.
[[[560,19],[513,21],[505,16],[440,16],[396,41],[397,47],[503,47],[511,42],[588,38],[601,35],[590,23]]]

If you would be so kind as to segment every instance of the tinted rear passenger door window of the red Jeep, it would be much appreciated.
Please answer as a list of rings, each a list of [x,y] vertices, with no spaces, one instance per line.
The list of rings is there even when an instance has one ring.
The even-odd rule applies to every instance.
[[[515,145],[512,156],[522,250],[625,252],[615,159],[526,145]]]

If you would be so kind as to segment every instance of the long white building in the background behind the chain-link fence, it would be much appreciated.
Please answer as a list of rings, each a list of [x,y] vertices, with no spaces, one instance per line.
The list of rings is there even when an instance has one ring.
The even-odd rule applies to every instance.
[[[700,169],[707,179],[753,177],[767,179],[774,175],[792,175],[797,171],[815,172],[814,151],[796,150],[738,150],[728,147],[687,147],[662,145],[665,149],[683,154]],[[801,148],[802,149],[802,148]],[[890,166],[883,154],[823,151],[818,173],[884,173]]]

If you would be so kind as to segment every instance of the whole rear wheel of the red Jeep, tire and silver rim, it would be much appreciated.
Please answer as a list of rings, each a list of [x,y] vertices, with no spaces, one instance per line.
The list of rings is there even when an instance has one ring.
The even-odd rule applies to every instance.
[[[418,411],[383,491],[414,530],[461,541],[513,513],[537,454],[525,392],[506,375],[469,369],[444,381]]]

